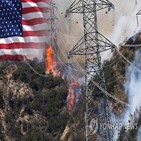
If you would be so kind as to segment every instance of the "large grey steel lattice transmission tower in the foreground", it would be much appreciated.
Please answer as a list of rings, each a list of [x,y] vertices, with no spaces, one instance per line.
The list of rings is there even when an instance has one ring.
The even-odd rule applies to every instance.
[[[73,55],[85,55],[85,84],[86,84],[86,113],[85,113],[85,138],[86,141],[94,140],[94,131],[90,127],[91,120],[99,116],[94,110],[94,100],[101,101],[102,113],[98,117],[99,122],[110,123],[108,100],[101,91],[96,90],[91,81],[96,78],[102,88],[106,90],[103,73],[101,53],[113,50],[115,45],[98,32],[97,11],[107,8],[108,11],[114,5],[108,0],[75,0],[66,10],[66,16],[70,13],[83,14],[84,36],[69,52]],[[94,90],[94,91],[92,91]],[[96,140],[111,141],[111,130],[98,130]],[[101,136],[101,139],[99,138]]]

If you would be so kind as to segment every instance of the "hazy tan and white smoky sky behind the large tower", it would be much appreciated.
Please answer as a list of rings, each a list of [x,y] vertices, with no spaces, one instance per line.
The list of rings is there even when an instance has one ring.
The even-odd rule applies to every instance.
[[[55,0],[58,21],[57,38],[62,54],[66,56],[69,50],[83,36],[83,18],[81,14],[71,14],[65,18],[65,11],[74,0]],[[115,9],[106,14],[106,10],[98,14],[98,29],[115,45],[123,43],[126,38],[139,30],[136,13],[141,9],[141,0],[111,0]],[[141,25],[141,18],[140,25]],[[62,56],[62,55],[61,55]]]

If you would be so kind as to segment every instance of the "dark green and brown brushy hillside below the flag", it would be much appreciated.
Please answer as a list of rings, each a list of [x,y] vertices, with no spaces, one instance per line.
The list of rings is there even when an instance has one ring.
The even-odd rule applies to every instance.
[[[30,64],[44,72],[42,63]],[[40,77],[25,63],[2,63],[0,87],[0,140],[60,140],[69,119],[61,77]]]

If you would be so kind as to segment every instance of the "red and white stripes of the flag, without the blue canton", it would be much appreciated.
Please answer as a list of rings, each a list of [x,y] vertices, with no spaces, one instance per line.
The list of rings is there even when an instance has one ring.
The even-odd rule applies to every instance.
[[[50,38],[48,0],[22,0],[23,37],[0,39],[0,60],[23,60],[39,55]]]

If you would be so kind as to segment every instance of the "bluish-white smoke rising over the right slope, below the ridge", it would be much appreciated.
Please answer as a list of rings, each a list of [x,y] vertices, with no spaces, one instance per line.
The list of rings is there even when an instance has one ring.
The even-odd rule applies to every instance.
[[[125,121],[129,120],[129,115],[133,114],[136,108],[141,106],[141,49],[135,53],[132,64],[126,72],[125,93],[128,96],[130,107],[124,113]]]

